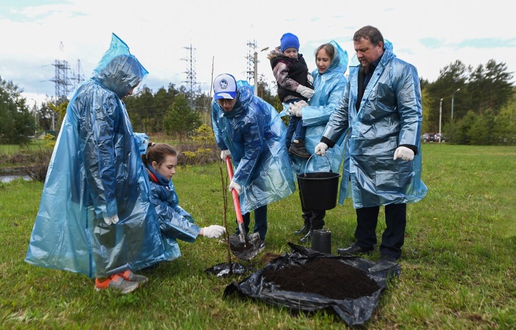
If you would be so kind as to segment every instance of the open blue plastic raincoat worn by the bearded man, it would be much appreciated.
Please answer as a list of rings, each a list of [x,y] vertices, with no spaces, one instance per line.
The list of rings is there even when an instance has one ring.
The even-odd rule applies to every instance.
[[[385,40],[384,54],[357,112],[360,68],[356,56],[352,62],[342,104],[323,134],[338,141],[350,129],[339,202],[351,196],[354,208],[418,202],[427,188],[421,181],[422,103],[417,70],[396,58],[392,44]],[[417,147],[412,161],[393,160],[401,144]]]

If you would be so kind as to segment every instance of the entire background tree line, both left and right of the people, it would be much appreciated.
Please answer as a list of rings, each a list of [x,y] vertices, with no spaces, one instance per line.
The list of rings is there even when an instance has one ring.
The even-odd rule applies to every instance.
[[[442,98],[441,123],[446,141],[516,144],[516,89],[511,83],[512,74],[503,62],[489,60],[473,68],[457,60],[441,69],[436,81],[420,78],[421,133],[438,132]],[[257,90],[258,96],[278,111],[282,109],[276,86],[267,84],[263,76]],[[55,130],[60,128],[68,101],[57,104],[50,99],[41,104],[34,116],[21,92],[12,81],[0,77],[0,143],[28,142],[36,131],[50,130],[52,118]],[[169,84],[155,92],[143,86],[134,95],[124,98],[124,103],[135,131],[164,132],[182,141],[202,123],[211,124],[211,95],[198,91],[193,100],[189,96],[184,86],[176,88]]]

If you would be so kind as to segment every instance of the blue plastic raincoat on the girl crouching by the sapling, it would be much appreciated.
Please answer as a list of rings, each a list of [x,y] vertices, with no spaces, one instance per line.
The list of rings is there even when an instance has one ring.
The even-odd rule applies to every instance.
[[[190,213],[179,206],[179,197],[172,180],[167,186],[151,180],[151,202],[159,217],[159,228],[169,259],[178,258],[181,256],[181,251],[176,239],[193,242],[199,235],[201,227],[193,224]]]

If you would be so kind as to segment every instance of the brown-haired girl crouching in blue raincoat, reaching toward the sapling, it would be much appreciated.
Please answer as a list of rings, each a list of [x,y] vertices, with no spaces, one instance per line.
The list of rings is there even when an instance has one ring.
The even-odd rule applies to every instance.
[[[150,200],[159,217],[159,228],[165,243],[165,250],[170,259],[181,255],[176,239],[193,242],[198,235],[219,238],[225,228],[219,225],[199,227],[193,223],[192,216],[179,206],[178,194],[175,193],[172,176],[178,163],[178,154],[168,144],[150,142],[143,163],[151,183]]]

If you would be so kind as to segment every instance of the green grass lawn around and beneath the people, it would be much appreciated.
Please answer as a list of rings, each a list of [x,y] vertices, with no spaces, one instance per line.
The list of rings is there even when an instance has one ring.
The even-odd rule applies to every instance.
[[[365,328],[516,328],[516,147],[425,144],[423,160],[429,191],[407,208],[401,276],[382,293]],[[216,164],[205,172],[181,168],[174,184],[200,225],[222,222]],[[2,328],[346,328],[331,312],[222,300],[231,279],[204,274],[226,258],[224,245],[210,239],[180,242],[181,258],[145,272],[150,283],[125,296],[96,293],[82,275],[30,266],[23,259],[41,189],[21,180],[0,185]],[[298,195],[270,205],[268,223],[266,251],[288,252],[286,241],[296,241],[292,232],[302,224]],[[353,242],[349,201],[328,211],[326,223],[333,252]],[[370,258],[377,260],[378,250]],[[254,261],[263,265],[260,256]]]

